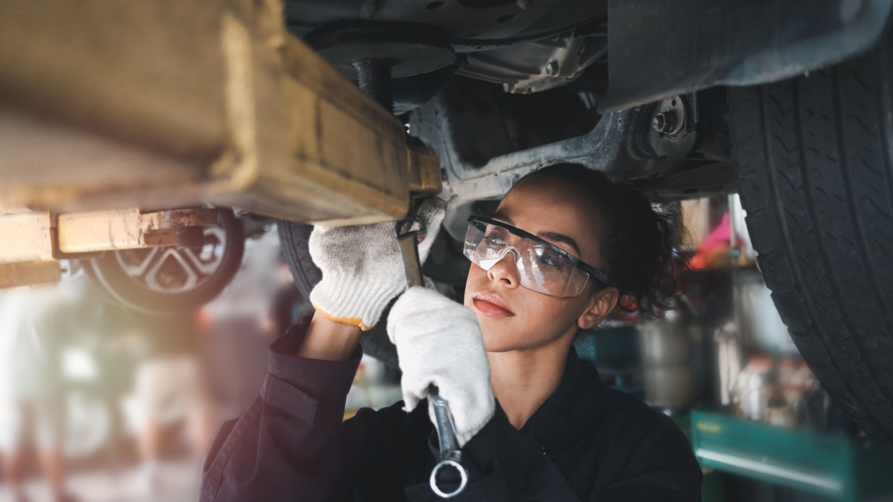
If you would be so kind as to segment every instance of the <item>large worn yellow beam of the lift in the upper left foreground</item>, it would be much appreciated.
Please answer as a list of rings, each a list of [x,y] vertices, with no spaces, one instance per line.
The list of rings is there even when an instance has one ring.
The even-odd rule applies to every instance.
[[[277,0],[0,2],[0,205],[403,217],[416,162],[404,125],[292,36],[282,11]],[[432,193],[439,166],[438,182],[425,172],[416,191]]]

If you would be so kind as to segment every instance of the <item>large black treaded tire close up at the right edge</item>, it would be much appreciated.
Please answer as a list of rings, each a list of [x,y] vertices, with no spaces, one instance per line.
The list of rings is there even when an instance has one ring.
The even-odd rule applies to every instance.
[[[893,448],[893,47],[730,88],[747,230],[791,337],[862,429]]]

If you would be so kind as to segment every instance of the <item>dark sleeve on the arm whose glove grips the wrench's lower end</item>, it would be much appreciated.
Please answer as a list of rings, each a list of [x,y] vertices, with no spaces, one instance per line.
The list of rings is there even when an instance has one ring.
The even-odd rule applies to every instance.
[[[542,449],[509,423],[498,403],[496,414],[465,444],[462,454],[469,471],[463,501],[580,500]],[[406,495],[413,502],[443,500],[427,482],[408,487]]]

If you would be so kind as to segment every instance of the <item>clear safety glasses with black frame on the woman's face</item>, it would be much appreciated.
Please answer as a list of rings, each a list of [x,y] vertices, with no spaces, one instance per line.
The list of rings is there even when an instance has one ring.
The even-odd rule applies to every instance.
[[[519,283],[553,297],[576,297],[589,276],[609,284],[607,276],[554,244],[504,222],[474,216],[468,219],[464,255],[484,270],[514,255]]]

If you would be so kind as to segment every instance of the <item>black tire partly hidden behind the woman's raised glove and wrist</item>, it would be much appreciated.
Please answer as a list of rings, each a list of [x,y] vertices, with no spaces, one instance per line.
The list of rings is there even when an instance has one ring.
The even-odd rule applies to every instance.
[[[282,256],[285,258],[288,268],[291,269],[291,274],[295,278],[297,291],[303,297],[309,298],[313,286],[316,286],[322,279],[322,272],[316,264],[313,264],[313,258],[310,257],[310,248],[307,246],[310,232],[313,231],[313,225],[280,220],[276,226],[279,229]],[[390,312],[390,305],[381,314],[381,322],[371,330],[363,333],[360,346],[363,347],[363,353],[379,359],[392,368],[399,368],[400,364],[396,357],[396,347],[388,339],[388,312]]]

